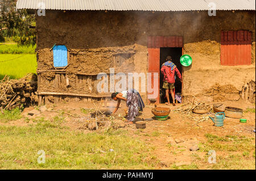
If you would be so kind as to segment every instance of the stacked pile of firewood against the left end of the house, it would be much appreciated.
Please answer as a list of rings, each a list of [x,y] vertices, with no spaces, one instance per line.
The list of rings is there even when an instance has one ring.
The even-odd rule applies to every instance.
[[[0,80],[0,109],[12,110],[16,107],[34,106],[35,102],[38,102],[38,97],[34,93],[36,90],[36,74],[28,74],[20,79],[5,76]]]

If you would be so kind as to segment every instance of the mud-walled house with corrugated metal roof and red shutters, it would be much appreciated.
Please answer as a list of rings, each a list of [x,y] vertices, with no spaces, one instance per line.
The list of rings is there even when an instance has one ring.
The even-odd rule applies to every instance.
[[[168,55],[183,76],[175,90],[183,102],[255,102],[254,0],[18,0],[16,8],[36,15],[40,103],[109,98],[97,91],[98,73],[160,75]],[[181,66],[182,54],[191,66]],[[159,103],[162,75],[151,79],[158,96],[141,94]]]

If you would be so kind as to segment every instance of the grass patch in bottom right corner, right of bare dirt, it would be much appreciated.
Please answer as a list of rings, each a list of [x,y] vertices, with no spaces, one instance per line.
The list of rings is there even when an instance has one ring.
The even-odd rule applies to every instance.
[[[206,153],[209,150],[216,151],[216,163],[209,164],[209,155],[205,155],[204,162],[196,161],[197,165],[201,164],[207,169],[216,170],[255,169],[255,137],[216,136],[209,133],[205,134],[205,137],[207,137],[207,141],[199,145],[200,151]]]

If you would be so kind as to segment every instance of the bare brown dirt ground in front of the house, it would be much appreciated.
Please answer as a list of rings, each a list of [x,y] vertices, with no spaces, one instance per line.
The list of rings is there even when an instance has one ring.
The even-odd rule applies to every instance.
[[[255,108],[255,104],[246,103],[242,100],[239,102],[225,102],[226,106],[239,107],[243,110],[247,108]],[[114,103],[109,104],[109,106],[114,106]],[[122,128],[126,129],[131,137],[139,138],[140,140],[146,142],[146,144],[154,146],[152,154],[156,155],[159,159],[162,166],[159,166],[159,169],[168,168],[172,164],[176,166],[180,165],[190,165],[192,163],[191,154],[196,153],[200,158],[204,158],[207,153],[204,151],[190,151],[189,148],[193,145],[199,145],[200,142],[206,141],[206,133],[214,134],[216,136],[246,136],[254,137],[255,133],[255,113],[245,112],[243,118],[247,119],[247,123],[240,123],[239,119],[232,119],[226,117],[223,127],[214,127],[212,120],[208,119],[202,121],[201,123],[196,123],[195,120],[189,119],[185,115],[180,115],[175,113],[173,110],[180,105],[176,106],[166,106],[159,105],[161,107],[170,107],[170,119],[166,121],[151,120],[146,121],[145,129],[135,128],[135,124],[127,125],[122,124]],[[46,110],[39,111],[39,115],[29,116],[28,112],[31,110],[36,110],[36,108],[29,107],[25,108],[23,111],[23,118],[16,121],[10,121],[9,123],[0,123],[8,125],[18,125],[26,126],[34,124],[31,119],[34,117],[45,117],[45,119],[51,119],[54,116],[58,116],[59,112],[53,111],[64,111],[69,115],[76,115],[79,117],[68,116],[65,118],[63,125],[71,128],[71,130],[79,132],[93,132],[88,129],[81,128],[81,125],[85,123],[86,119],[90,114],[85,114],[81,112],[82,108],[94,108],[93,104],[84,104],[80,102],[69,102],[62,104],[50,104],[45,106]],[[109,107],[108,107],[109,108]],[[112,107],[113,108],[113,107]],[[111,110],[112,108],[109,108]],[[142,115],[139,118],[147,119],[151,118],[154,115],[151,113],[151,109],[154,108],[154,105],[146,106],[142,112]],[[38,109],[38,108],[37,108]],[[105,108],[106,109],[106,108]],[[125,115],[123,111],[126,109],[124,103],[121,103],[121,108],[119,108],[117,115]],[[193,114],[193,116],[200,116]],[[26,121],[26,117],[30,118],[30,121]],[[98,131],[98,130],[97,130]],[[97,132],[96,131],[96,132]],[[170,146],[171,145],[171,146]],[[219,152],[216,154],[225,155],[225,152]],[[202,169],[202,168],[200,168]]]

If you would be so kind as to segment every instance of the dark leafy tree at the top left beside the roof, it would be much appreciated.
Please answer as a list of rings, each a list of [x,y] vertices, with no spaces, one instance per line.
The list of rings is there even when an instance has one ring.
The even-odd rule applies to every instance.
[[[34,45],[35,30],[30,26],[35,23],[35,15],[28,15],[26,10],[16,10],[16,1],[0,0],[0,34],[14,37],[18,45]]]

